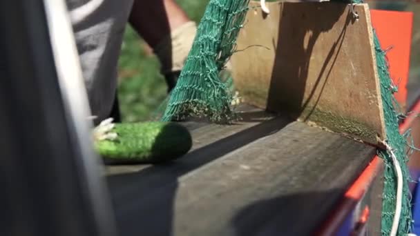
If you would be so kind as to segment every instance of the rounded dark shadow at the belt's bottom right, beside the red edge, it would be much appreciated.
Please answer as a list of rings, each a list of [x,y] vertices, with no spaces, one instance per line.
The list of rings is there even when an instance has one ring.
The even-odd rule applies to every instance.
[[[318,227],[323,224],[323,220],[334,210],[335,204],[344,192],[345,189],[336,188],[257,201],[240,210],[233,217],[231,224],[237,236],[314,235]],[[330,200],[325,201],[325,199]],[[285,217],[285,212],[292,214]]]

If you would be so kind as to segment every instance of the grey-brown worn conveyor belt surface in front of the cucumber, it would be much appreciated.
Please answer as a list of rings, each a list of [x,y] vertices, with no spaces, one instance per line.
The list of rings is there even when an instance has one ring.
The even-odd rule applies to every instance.
[[[193,149],[172,164],[106,168],[121,235],[309,235],[375,155],[244,110],[231,126],[185,123]]]

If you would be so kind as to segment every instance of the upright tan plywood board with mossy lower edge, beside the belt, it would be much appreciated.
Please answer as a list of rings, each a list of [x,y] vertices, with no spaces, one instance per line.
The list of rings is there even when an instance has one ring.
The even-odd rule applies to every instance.
[[[381,92],[366,4],[267,3],[250,10],[231,59],[249,104],[371,144],[384,139]],[[258,6],[252,2],[251,5]]]

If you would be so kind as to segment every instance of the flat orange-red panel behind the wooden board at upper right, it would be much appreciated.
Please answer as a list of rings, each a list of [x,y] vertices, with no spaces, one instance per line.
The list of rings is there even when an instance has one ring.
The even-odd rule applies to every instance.
[[[395,98],[405,106],[408,75],[410,71],[410,50],[412,39],[412,12],[370,10],[372,25],[381,41],[382,49],[390,49],[387,57],[390,74],[398,85]]]

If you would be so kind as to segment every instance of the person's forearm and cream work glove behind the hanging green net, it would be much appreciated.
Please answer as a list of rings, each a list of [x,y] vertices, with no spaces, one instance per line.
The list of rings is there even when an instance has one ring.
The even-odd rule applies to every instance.
[[[128,20],[153,48],[169,91],[175,87],[197,31],[174,0],[135,0]]]

